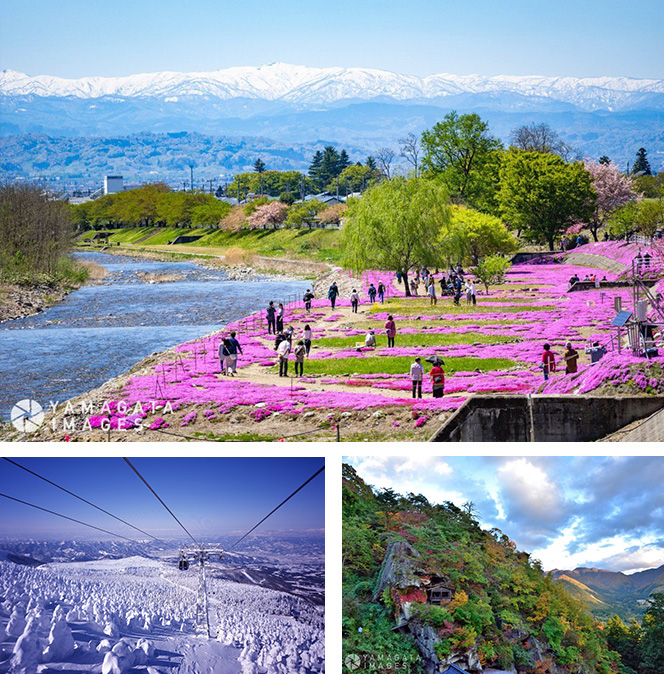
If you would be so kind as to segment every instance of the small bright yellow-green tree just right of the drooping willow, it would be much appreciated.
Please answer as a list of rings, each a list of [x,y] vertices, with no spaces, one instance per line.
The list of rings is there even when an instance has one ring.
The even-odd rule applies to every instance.
[[[514,236],[499,218],[465,206],[452,206],[449,227],[442,230],[440,244],[447,262],[471,262],[518,248]]]

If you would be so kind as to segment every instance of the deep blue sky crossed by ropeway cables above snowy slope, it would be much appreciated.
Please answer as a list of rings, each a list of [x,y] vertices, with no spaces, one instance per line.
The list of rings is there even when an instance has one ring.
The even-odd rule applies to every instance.
[[[184,532],[121,458],[18,458],[16,463],[157,537]],[[313,475],[322,458],[130,458],[194,537],[244,533]],[[128,538],[139,532],[0,460],[0,492]],[[324,528],[324,473],[261,530]],[[55,515],[0,498],[0,536],[108,538]]]

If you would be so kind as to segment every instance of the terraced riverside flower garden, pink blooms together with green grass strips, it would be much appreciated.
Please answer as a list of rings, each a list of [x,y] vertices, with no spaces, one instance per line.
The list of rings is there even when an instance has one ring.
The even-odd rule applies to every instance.
[[[638,252],[633,244],[616,242],[590,244],[584,249],[589,255],[616,260],[625,269]],[[656,260],[657,255],[653,266]],[[369,307],[365,299],[364,312],[359,314],[347,310],[350,302],[345,298],[337,301],[335,310],[324,299],[314,300],[310,313],[300,306],[286,307],[285,324],[293,326],[296,339],[306,323],[313,329],[313,348],[303,378],[283,380],[277,376],[267,324],[260,317],[248,317],[222,332],[180,345],[174,359],[149,374],[127,380],[118,400],[130,409],[150,400],[170,402],[173,410],[182,410],[172,418],[183,426],[197,419],[222,420],[238,407],[251,409],[252,418],[260,421],[275,412],[297,416],[316,409],[335,414],[344,410],[387,411],[395,406],[412,408],[414,416],[420,417],[416,423],[421,425],[421,419],[452,411],[471,394],[587,393],[606,384],[657,390],[659,378],[634,373],[634,368],[648,364],[644,366],[642,359],[624,351],[621,355],[610,352],[592,367],[582,357],[575,375],[565,375],[560,368],[544,382],[540,369],[544,342],[552,345],[557,359],[568,341],[579,351],[594,340],[605,343],[615,330],[610,326],[614,298],[621,297],[629,306],[630,288],[567,292],[573,274],[583,278],[596,271],[556,263],[515,265],[503,285],[491,289],[488,296],[478,295],[477,306],[462,303],[458,307],[449,297],[439,297],[436,306],[431,306],[428,298],[406,298],[392,274],[370,272],[358,279],[358,287],[361,285],[366,298],[369,283],[390,285],[393,296],[384,305]],[[608,280],[620,276],[601,275]],[[390,349],[382,337],[388,313],[394,316],[398,330],[396,346]],[[367,350],[361,344],[372,327],[378,347]],[[230,330],[238,332],[243,349],[237,379],[220,375],[217,356],[221,337]],[[410,397],[409,365],[416,356],[434,354],[445,360],[445,397],[426,397],[425,385],[425,398],[414,400]],[[274,383],[265,374],[273,375]],[[107,418],[112,427],[128,427],[144,416],[140,412],[132,416],[111,405]],[[102,417],[95,417],[90,423],[95,426],[102,421]],[[173,425],[172,419],[156,417],[150,427],[165,428],[169,422]]]

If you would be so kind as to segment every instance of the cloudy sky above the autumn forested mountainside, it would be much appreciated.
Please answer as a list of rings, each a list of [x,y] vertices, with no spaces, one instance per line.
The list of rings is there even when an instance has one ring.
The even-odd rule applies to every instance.
[[[472,501],[545,569],[664,564],[664,457],[346,457],[375,488]]]

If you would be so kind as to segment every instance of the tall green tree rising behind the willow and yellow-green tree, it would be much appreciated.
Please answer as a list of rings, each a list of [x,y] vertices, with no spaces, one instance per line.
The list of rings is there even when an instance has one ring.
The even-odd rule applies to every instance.
[[[502,143],[479,115],[450,112],[422,133],[422,149],[424,170],[439,176],[452,196],[478,206],[486,202]]]

